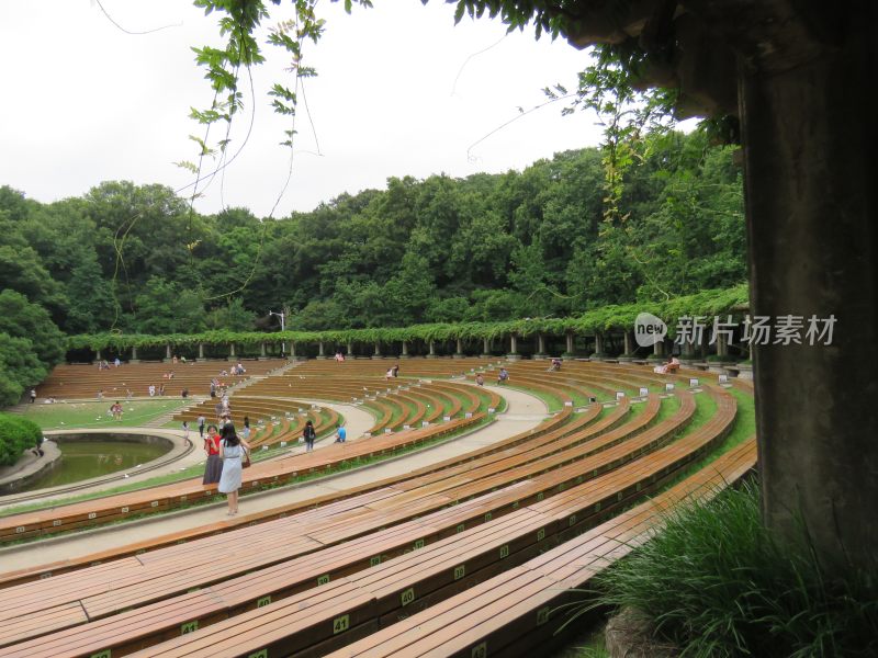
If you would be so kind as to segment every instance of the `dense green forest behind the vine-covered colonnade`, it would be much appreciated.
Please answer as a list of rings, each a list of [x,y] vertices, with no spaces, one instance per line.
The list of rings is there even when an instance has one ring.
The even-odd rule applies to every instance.
[[[301,330],[559,317],[745,280],[731,147],[650,135],[612,214],[601,158],[393,178],[264,222],[202,215],[162,185],[52,204],[0,188],[0,367],[18,373],[3,397],[63,358],[61,332],[275,329],[282,307]]]

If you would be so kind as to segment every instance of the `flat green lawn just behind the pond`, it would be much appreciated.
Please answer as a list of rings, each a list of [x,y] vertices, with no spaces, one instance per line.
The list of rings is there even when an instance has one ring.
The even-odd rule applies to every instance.
[[[54,405],[29,405],[22,416],[33,420],[44,430],[69,430],[76,428],[137,427],[155,420],[165,413],[184,407],[191,401],[181,399],[126,400],[122,404],[122,421],[108,415],[115,398],[101,402],[56,402]]]

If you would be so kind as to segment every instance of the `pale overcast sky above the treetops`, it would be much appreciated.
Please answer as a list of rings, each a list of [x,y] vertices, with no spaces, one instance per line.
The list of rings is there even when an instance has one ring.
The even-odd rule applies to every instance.
[[[338,3],[318,5],[326,33],[305,52],[305,64],[318,70],[305,87],[314,131],[300,105],[292,180],[275,217],[342,192],[383,189],[389,177],[502,172],[598,144],[594,115],[561,116],[562,103],[475,144],[519,109],[543,103],[543,87],[573,90],[588,64],[585,52],[561,39],[537,42],[531,29],[504,36],[498,21],[454,26],[453,7],[442,2],[374,2],[351,15]],[[185,0],[102,4],[124,30],[168,27],[126,34],[93,0],[0,0],[0,185],[52,202],[105,180],[175,190],[192,180],[173,162],[195,159],[188,136],[203,136],[203,127],[188,118],[189,109],[206,106],[211,92],[190,48],[219,45],[216,15]],[[282,18],[290,4],[269,7]],[[202,213],[226,205],[267,216],[283,188],[289,150],[279,143],[290,125],[273,115],[266,90],[294,82],[282,54],[266,49],[271,61],[255,69],[252,134],[224,180],[217,177],[196,203]],[[232,150],[254,110],[245,93]]]

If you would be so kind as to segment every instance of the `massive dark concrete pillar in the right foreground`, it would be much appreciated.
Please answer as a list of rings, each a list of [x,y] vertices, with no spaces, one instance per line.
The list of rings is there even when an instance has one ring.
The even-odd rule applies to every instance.
[[[834,43],[800,46],[810,57],[766,49],[739,79],[751,310],[804,322],[802,344],[753,345],[763,511],[789,534],[801,514],[821,564],[851,577],[878,540],[874,25],[851,15]],[[831,344],[810,344],[810,318],[831,316]]]

